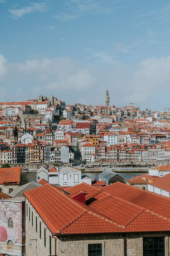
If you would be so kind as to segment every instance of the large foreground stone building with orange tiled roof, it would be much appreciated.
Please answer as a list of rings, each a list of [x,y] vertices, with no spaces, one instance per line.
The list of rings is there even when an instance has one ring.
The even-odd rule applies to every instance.
[[[26,256],[168,256],[170,199],[124,183],[26,196]]]

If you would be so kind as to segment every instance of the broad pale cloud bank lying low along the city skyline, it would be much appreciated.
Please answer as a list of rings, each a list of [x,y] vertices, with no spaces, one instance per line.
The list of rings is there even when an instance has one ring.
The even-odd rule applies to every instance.
[[[103,104],[108,87],[110,101],[116,106],[135,102],[156,109],[163,105],[162,93],[170,92],[170,56],[146,58],[135,69],[126,64],[101,65],[92,60],[85,64],[66,57],[8,63],[0,55],[0,101],[53,93],[67,103]]]

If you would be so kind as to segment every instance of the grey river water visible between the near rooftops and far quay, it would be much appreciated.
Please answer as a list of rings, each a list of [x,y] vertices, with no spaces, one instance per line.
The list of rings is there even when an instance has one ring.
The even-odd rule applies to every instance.
[[[82,175],[85,174],[85,175],[88,175],[90,178],[92,178],[92,180],[95,180],[95,179],[98,180],[98,175],[100,173],[101,172],[86,172],[86,173],[82,172]],[[121,175],[122,177],[124,177],[126,180],[128,180],[132,177],[142,175],[142,174],[144,174],[144,172],[122,172],[122,173],[119,172],[118,174]],[[33,180],[36,181],[35,173],[27,173],[26,176],[27,176],[29,182],[31,182]]]

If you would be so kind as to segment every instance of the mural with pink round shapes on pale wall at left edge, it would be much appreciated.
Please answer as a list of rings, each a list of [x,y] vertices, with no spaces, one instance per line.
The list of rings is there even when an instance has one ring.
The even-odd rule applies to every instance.
[[[22,242],[22,204],[0,201],[0,242]]]

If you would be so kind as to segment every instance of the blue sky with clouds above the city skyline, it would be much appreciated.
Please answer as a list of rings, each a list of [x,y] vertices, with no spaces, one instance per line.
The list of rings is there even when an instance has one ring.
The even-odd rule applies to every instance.
[[[0,101],[170,108],[169,0],[0,0]]]

